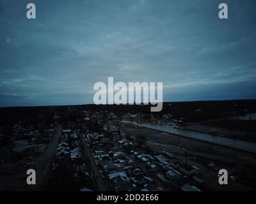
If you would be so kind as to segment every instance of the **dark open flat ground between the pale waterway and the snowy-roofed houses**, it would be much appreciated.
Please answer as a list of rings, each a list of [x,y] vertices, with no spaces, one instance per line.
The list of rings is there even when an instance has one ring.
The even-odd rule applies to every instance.
[[[193,164],[200,168],[201,173],[204,175],[205,184],[213,191],[249,191],[251,189],[250,187],[245,187],[243,184],[237,184],[232,181],[228,187],[220,187],[217,183],[218,173],[205,166],[205,163],[207,164],[214,161],[219,164],[220,168],[227,169],[230,166],[235,167],[236,165],[241,164],[244,168],[253,170],[256,166],[255,154],[152,129],[141,128],[132,124],[115,123],[115,125],[119,126],[125,133],[128,133],[134,140],[142,139],[149,149],[153,151],[157,150],[159,152],[166,150],[167,152],[174,154],[176,158],[184,163],[186,161],[184,152],[187,152],[189,155],[189,164]],[[205,161],[204,164],[202,164],[202,160]]]

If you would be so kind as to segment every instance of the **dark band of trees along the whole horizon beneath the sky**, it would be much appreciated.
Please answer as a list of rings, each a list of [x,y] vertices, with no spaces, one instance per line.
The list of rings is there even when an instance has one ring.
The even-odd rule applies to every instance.
[[[71,110],[71,111],[70,111]],[[256,100],[231,101],[189,101],[163,103],[161,112],[150,112],[150,105],[74,105],[74,106],[36,106],[36,107],[10,107],[0,108],[0,125],[13,126],[16,122],[29,118],[38,122],[52,122],[54,114],[61,120],[76,121],[83,119],[83,111],[88,112],[114,112],[119,116],[124,113],[146,113],[154,117],[161,117],[170,113],[176,119],[184,118],[187,122],[217,119],[231,115],[244,115],[256,112]]]

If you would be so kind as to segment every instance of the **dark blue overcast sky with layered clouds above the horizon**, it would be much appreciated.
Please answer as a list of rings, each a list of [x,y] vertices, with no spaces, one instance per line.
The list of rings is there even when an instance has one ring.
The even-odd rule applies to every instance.
[[[108,77],[163,82],[164,101],[256,98],[255,13],[255,0],[0,0],[0,106],[93,103]]]

